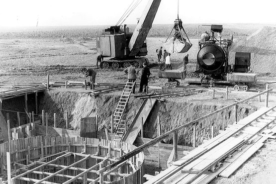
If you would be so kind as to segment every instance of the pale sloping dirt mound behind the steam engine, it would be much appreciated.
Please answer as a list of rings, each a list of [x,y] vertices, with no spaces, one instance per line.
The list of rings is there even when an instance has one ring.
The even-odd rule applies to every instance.
[[[251,52],[252,72],[276,74],[275,43],[276,27],[265,26],[246,39],[234,41],[231,52]]]

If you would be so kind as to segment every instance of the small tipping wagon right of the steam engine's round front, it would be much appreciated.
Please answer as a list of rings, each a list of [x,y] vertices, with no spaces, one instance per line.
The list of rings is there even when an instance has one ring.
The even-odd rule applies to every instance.
[[[251,73],[229,73],[227,74],[227,81],[235,84],[235,91],[244,91],[250,89],[258,80],[258,74]]]

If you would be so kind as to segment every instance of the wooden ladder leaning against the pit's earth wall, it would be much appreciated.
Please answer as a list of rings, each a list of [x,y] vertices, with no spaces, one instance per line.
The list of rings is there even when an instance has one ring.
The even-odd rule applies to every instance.
[[[113,125],[114,125],[115,133],[116,133],[115,138],[114,138],[115,141],[121,141],[121,139],[125,133],[125,129],[126,129],[125,122],[121,121],[121,119],[122,119],[126,104],[129,100],[130,94],[131,94],[133,88],[135,88],[135,84],[136,84],[136,82],[134,82],[134,83],[127,82],[126,83],[125,88],[121,94],[120,100],[115,109],[115,112],[113,114],[113,118],[114,118]]]

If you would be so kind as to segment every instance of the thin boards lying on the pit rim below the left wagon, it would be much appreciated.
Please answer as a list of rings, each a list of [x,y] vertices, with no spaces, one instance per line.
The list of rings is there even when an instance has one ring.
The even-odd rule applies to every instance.
[[[134,97],[139,99],[147,99],[147,98],[160,98],[160,97],[178,97],[178,96],[184,96],[186,94],[191,94],[193,92],[202,92],[203,90],[181,90],[181,91],[175,91],[175,92],[163,92],[163,93],[152,93],[152,94],[142,94],[142,95],[136,95]]]

